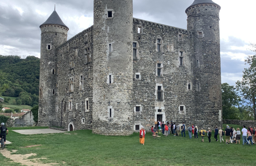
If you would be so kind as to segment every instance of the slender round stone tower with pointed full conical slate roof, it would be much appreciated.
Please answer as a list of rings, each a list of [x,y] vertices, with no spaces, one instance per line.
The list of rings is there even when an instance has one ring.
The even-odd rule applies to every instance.
[[[39,110],[38,124],[47,126],[55,119],[55,105],[57,102],[57,54],[56,47],[67,41],[68,27],[61,21],[57,12],[40,25],[41,29],[41,57],[39,79]]]

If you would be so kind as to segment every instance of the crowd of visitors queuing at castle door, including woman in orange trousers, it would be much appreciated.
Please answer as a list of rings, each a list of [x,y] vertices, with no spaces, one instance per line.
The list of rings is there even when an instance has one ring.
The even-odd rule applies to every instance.
[[[191,124],[188,126],[188,135],[189,138],[192,139],[192,136],[194,136],[194,139],[198,139],[198,135],[202,137],[201,142],[204,142],[204,137],[207,135],[209,143],[211,142],[211,137],[212,137],[212,130],[209,127],[208,130],[205,130],[203,128],[201,128],[200,130],[198,129],[197,126],[194,126],[194,124]],[[154,135],[157,135],[158,132],[162,132],[162,134],[164,136],[169,136],[170,134],[172,134],[173,136],[180,136],[181,133],[181,137],[186,137],[185,134],[185,130],[186,130],[186,125],[184,124],[184,122],[182,124],[176,124],[173,123],[171,121],[171,123],[169,122],[162,122],[161,119],[158,120],[156,126],[152,126],[151,127],[151,132]],[[242,130],[240,131],[240,128],[233,128],[232,126],[229,127],[228,125],[226,126],[225,130],[222,130],[221,127],[215,127],[214,129],[214,139],[215,141],[220,141],[220,143],[224,142],[226,144],[229,143],[239,143],[240,144],[240,140],[241,140],[241,135],[242,135],[242,143],[243,145],[246,143],[247,145],[253,145],[256,143],[256,127],[247,127],[245,125],[243,125]],[[144,127],[141,127],[140,130],[140,143],[144,145],[144,141],[145,141],[145,134],[146,131],[144,129]],[[218,135],[219,138],[218,139]],[[223,140],[223,137],[225,139],[225,141]]]

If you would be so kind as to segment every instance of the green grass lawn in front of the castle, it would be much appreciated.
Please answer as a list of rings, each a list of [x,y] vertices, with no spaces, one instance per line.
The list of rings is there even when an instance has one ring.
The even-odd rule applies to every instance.
[[[223,124],[223,126],[226,126]],[[229,125],[237,128],[239,125]],[[240,126],[239,126],[240,127]],[[36,153],[44,163],[57,162],[62,165],[254,165],[256,145],[229,144],[205,142],[186,137],[162,137],[153,139],[151,133],[145,137],[145,145],[139,143],[138,133],[129,136],[104,136],[92,134],[91,130],[77,130],[54,134],[22,135],[13,129],[32,129],[38,127],[8,128],[7,140],[12,144],[7,149],[18,150],[15,154]],[[240,127],[241,128],[241,127]],[[22,148],[28,145],[38,145]],[[30,157],[33,158],[33,157]],[[7,162],[8,159],[0,154],[1,166],[21,166],[18,163]]]

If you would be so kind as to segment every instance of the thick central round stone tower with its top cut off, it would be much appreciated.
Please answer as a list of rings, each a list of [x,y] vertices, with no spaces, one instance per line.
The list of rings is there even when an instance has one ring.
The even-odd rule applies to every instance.
[[[94,0],[93,133],[133,133],[132,21],[132,0]]]

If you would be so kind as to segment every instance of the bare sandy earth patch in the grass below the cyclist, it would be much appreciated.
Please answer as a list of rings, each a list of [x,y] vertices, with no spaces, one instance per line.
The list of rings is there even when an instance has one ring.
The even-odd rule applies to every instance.
[[[16,152],[17,150],[13,150],[12,152]],[[21,163],[27,166],[52,166],[52,165],[59,165],[58,163],[48,163],[43,164],[42,162],[38,161],[39,159],[46,159],[46,158],[34,158],[34,159],[27,159],[30,156],[35,156],[35,153],[29,153],[29,154],[11,154],[10,151],[7,149],[1,150],[1,153],[6,158],[9,158],[16,163]]]

